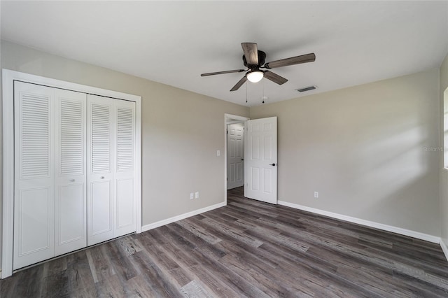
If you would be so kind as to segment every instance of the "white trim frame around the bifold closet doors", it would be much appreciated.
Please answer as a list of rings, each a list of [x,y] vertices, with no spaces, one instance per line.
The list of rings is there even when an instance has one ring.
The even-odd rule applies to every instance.
[[[34,83],[59,89],[96,94],[134,101],[136,104],[136,225],[141,233],[141,97],[102,88],[69,83],[63,80],[35,76],[29,73],[2,70],[3,88],[3,239],[1,246],[1,278],[13,274],[14,248],[14,81]]]

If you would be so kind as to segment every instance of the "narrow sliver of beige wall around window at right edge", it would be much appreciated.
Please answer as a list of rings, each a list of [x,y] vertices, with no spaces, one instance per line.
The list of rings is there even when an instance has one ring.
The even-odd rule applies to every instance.
[[[444,90],[448,88],[448,55],[440,66],[440,119],[444,114]],[[448,98],[445,99],[448,104]],[[448,108],[445,107],[448,110]],[[440,141],[444,139],[443,121],[440,121]],[[448,144],[444,144],[444,148],[448,148]],[[446,149],[445,149],[446,150]],[[445,152],[446,154],[446,152]],[[448,245],[448,170],[442,166],[443,155],[440,154],[440,228],[442,241]]]

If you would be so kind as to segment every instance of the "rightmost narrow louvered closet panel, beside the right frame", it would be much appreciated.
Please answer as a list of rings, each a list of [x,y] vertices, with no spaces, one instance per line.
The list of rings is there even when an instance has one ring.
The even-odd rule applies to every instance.
[[[135,103],[114,103],[114,182],[116,185],[115,236],[135,232]]]

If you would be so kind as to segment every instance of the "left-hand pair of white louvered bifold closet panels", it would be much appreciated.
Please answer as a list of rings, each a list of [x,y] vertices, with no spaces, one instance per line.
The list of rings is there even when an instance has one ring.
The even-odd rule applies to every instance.
[[[87,94],[15,82],[14,259],[19,269],[83,248]]]

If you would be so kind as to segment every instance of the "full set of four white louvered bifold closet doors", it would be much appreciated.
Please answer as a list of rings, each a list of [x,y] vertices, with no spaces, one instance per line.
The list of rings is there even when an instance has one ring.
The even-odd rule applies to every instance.
[[[14,81],[13,269],[136,232],[136,102]]]

